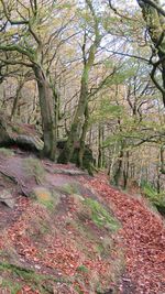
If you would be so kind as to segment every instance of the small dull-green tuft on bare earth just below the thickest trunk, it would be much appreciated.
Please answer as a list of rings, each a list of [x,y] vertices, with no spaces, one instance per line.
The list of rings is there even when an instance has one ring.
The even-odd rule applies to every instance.
[[[32,175],[35,177],[37,183],[41,183],[45,178],[45,170],[37,159],[25,159],[24,160],[24,167],[29,175]]]

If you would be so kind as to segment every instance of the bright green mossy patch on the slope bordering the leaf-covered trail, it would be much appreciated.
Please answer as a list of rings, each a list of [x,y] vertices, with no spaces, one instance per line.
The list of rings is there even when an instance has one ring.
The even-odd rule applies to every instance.
[[[90,217],[95,225],[98,227],[105,227],[111,231],[116,231],[120,228],[119,221],[112,217],[103,206],[91,198],[86,198],[85,204],[90,209]]]

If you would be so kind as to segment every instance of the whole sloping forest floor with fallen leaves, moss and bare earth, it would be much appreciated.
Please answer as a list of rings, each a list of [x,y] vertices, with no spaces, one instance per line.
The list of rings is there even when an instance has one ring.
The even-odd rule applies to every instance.
[[[165,222],[105,174],[0,150],[0,294],[165,294]]]

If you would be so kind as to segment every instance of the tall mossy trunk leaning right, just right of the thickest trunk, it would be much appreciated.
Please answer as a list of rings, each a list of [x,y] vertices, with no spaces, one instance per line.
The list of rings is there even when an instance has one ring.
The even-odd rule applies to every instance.
[[[81,81],[80,81],[80,95],[79,95],[78,106],[77,106],[74,120],[72,123],[72,128],[68,134],[68,140],[58,159],[61,163],[68,163],[70,161],[75,144],[77,142],[80,142],[80,138],[82,133],[82,126],[86,119],[85,112],[88,107],[89,73],[94,66],[96,52],[101,41],[100,33],[99,33],[99,20],[98,20],[98,17],[96,15],[95,8],[92,7],[92,1],[86,0],[86,3],[92,15],[92,20],[94,20],[92,29],[94,29],[95,39],[94,39],[92,44],[90,45],[90,48],[88,50],[86,47],[87,46],[87,31],[85,29],[84,44],[81,47],[84,69],[82,69]],[[91,41],[91,37],[90,37],[90,41]]]

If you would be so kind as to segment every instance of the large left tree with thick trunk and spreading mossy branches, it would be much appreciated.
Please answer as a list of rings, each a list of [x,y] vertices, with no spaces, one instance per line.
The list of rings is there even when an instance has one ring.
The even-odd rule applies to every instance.
[[[55,160],[57,91],[56,84],[51,78],[51,66],[55,58],[56,47],[59,47],[57,40],[64,33],[68,19],[64,21],[64,15],[58,15],[54,20],[55,10],[58,8],[58,3],[54,4],[54,1],[38,3],[34,0],[29,4],[24,0],[19,2],[1,0],[0,2],[3,22],[7,23],[1,29],[0,51],[12,53],[10,56],[4,54],[1,63],[7,66],[25,66],[34,73],[42,116],[43,152],[45,156]],[[59,24],[58,19],[62,19]],[[52,26],[54,22],[55,28]],[[62,40],[61,43],[63,43]]]

